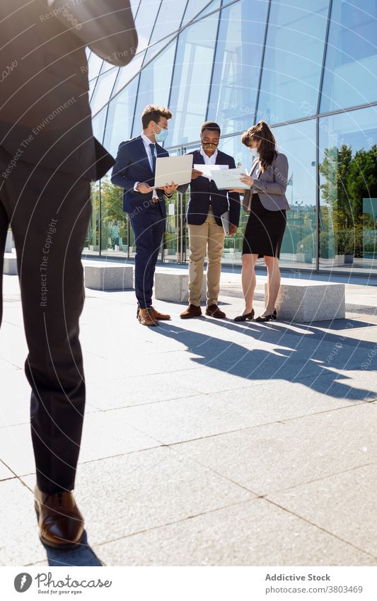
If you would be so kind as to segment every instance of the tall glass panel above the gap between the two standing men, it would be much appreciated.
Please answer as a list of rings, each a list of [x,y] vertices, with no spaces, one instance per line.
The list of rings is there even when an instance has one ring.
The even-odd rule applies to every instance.
[[[199,139],[205,120],[219,13],[190,25],[178,38],[170,110],[173,124],[166,146]]]

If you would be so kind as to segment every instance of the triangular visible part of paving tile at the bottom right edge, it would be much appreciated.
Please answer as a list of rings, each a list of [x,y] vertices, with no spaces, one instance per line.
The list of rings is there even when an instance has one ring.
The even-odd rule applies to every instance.
[[[377,557],[376,485],[377,463],[268,498]]]

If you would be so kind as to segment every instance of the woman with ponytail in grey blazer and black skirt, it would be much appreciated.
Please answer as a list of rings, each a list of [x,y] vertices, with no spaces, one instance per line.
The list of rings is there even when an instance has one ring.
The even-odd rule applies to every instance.
[[[245,229],[242,251],[242,287],[245,310],[234,321],[254,318],[253,297],[256,285],[255,263],[263,257],[268,274],[268,297],[265,311],[255,321],[277,319],[275,302],[280,286],[279,255],[286,227],[286,184],[288,160],[277,152],[274,134],[266,122],[260,121],[244,132],[241,141],[250,149],[257,149],[250,175],[240,181],[250,185],[250,190],[231,190],[244,194],[243,206],[250,212]]]

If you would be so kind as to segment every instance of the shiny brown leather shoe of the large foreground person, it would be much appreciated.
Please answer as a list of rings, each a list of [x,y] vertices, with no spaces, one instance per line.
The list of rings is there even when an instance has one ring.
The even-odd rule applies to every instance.
[[[34,488],[40,540],[54,549],[73,549],[83,536],[83,516],[71,492],[49,495]]]

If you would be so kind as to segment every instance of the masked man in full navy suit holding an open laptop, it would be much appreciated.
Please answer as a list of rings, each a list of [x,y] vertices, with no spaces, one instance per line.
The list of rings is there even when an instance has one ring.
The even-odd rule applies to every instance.
[[[158,142],[168,135],[168,108],[148,105],[141,115],[141,135],[121,142],[111,181],[123,188],[123,210],[136,242],[135,292],[137,318],[144,326],[158,326],[158,319],[170,319],[152,307],[153,276],[158,250],[163,239],[166,221],[164,195],[170,197],[178,188],[173,182],[164,188],[154,188],[156,159],[169,156]]]

